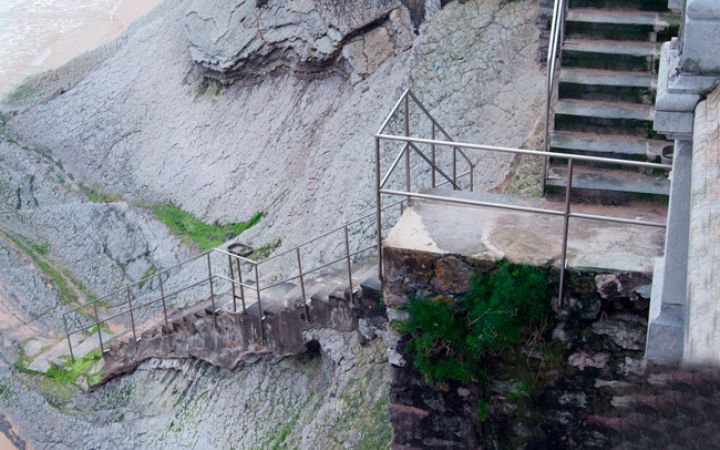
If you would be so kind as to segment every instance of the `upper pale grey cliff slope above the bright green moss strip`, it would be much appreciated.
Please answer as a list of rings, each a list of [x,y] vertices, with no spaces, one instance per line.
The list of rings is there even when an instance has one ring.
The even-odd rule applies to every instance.
[[[369,135],[405,87],[456,139],[536,135],[533,2],[453,2],[417,35],[399,2],[220,3],[164,4],[80,61],[82,77],[38,81],[44,100],[10,126],[130,202],[172,201],[209,222],[264,211],[245,237],[256,245],[372,206]],[[482,157],[476,179],[498,186],[511,159]]]

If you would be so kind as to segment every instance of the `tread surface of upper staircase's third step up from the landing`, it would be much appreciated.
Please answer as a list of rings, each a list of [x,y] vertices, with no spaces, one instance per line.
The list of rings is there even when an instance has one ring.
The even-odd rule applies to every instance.
[[[653,105],[642,103],[563,99],[558,101],[555,114],[600,119],[652,121],[655,117],[655,108]]]

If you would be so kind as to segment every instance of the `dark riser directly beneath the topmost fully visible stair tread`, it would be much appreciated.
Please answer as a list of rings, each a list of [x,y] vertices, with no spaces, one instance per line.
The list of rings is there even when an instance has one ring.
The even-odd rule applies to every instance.
[[[617,41],[652,41],[663,42],[677,36],[678,27],[662,27],[655,29],[651,25],[624,25],[610,23],[567,22],[565,36],[567,38],[610,39]]]

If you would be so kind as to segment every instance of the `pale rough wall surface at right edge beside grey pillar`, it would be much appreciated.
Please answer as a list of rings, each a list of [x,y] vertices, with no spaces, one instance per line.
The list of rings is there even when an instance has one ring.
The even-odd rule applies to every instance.
[[[720,88],[695,110],[683,361],[720,363]]]

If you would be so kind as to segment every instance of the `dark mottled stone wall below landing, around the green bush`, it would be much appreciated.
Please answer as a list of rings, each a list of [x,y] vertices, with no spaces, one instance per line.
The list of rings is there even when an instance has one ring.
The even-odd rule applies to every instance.
[[[457,297],[471,272],[493,267],[395,248],[386,249],[385,263],[392,320],[405,318],[410,298]],[[553,286],[556,275],[550,271]],[[646,273],[570,272],[566,304],[551,314],[542,344],[497,355],[484,383],[427,384],[413,367],[407,336],[396,335],[390,349],[393,448],[648,448],[676,442],[674,433],[687,436],[678,431],[687,418],[703,426],[717,422],[698,412],[706,399],[718,398],[716,372],[644,367],[650,282]],[[693,429],[686,443],[709,436]]]

